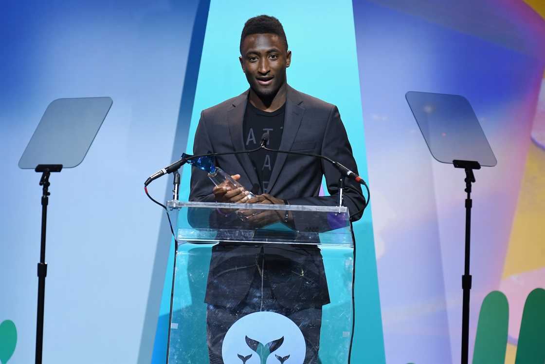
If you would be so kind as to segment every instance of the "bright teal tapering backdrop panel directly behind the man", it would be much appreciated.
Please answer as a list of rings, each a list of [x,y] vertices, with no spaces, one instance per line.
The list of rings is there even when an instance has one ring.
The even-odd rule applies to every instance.
[[[237,96],[249,86],[238,57],[240,33],[247,19],[259,14],[282,22],[292,64],[290,86],[337,105],[347,129],[360,175],[368,181],[360,82],[351,1],[277,1],[274,4],[211,1],[185,151],[191,152],[203,109]],[[180,154],[183,151],[179,151]],[[232,171],[233,173],[236,171]],[[180,200],[189,197],[189,169],[184,169]],[[356,237],[355,335],[352,362],[385,362],[371,208],[354,224]],[[172,282],[173,248],[169,254],[154,362],[164,362]],[[334,283],[330,282],[330,286]],[[165,325],[166,324],[166,325]]]

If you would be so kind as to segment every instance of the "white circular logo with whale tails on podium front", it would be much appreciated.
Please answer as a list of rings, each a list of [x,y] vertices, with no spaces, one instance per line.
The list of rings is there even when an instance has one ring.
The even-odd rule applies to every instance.
[[[225,364],[302,364],[305,338],[299,327],[275,312],[254,312],[237,320],[223,339]]]

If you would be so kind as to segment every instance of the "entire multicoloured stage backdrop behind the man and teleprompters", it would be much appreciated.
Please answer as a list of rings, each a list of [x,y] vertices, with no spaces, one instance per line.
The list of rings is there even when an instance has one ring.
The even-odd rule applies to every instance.
[[[34,352],[41,189],[17,162],[51,100],[90,96],[112,97],[110,114],[86,160],[51,177],[44,362],[164,362],[172,244],[142,183],[191,151],[203,108],[245,90],[238,42],[258,14],[284,25],[290,85],[338,106],[371,186],[353,363],[459,361],[464,174],[430,156],[407,91],[467,97],[498,159],[474,184],[470,342],[500,290],[514,362],[525,298],[545,287],[541,2],[99,0],[0,11],[3,364]]]

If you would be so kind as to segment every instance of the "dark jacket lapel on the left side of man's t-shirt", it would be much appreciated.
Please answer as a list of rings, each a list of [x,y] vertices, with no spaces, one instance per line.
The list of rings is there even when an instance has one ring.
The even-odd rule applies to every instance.
[[[229,125],[229,134],[231,134],[231,141],[233,143],[233,151],[245,150],[244,136],[243,136],[243,122],[244,112],[246,111],[246,103],[248,98],[248,91],[244,92],[240,96],[234,99],[231,108],[227,110],[227,123]],[[252,161],[247,153],[235,154],[240,165],[244,169],[247,178],[250,183],[258,183],[257,173],[253,169]],[[235,171],[229,171],[231,173],[238,173]],[[255,191],[257,193],[257,191]]]

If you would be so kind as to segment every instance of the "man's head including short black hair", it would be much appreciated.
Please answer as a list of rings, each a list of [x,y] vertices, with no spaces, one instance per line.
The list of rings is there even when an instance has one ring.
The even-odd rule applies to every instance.
[[[240,36],[240,64],[252,90],[272,98],[286,83],[292,60],[282,24],[274,16],[259,15],[246,21]]]

